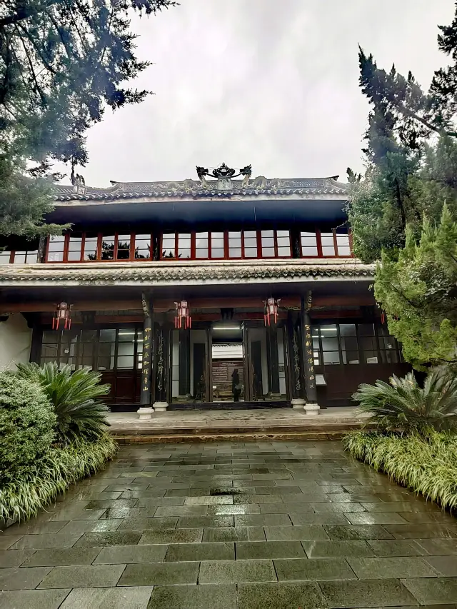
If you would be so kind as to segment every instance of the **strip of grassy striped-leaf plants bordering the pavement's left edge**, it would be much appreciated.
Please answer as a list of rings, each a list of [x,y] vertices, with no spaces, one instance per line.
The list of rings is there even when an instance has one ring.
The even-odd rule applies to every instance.
[[[50,448],[36,468],[0,485],[0,520],[31,518],[71,484],[103,468],[116,451],[116,442],[106,433],[96,441]]]

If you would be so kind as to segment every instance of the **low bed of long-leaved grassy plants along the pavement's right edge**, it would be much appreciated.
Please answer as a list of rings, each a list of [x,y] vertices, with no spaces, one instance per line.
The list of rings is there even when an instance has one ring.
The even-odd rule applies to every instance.
[[[457,436],[356,431],[343,446],[358,460],[443,508],[457,507]]]

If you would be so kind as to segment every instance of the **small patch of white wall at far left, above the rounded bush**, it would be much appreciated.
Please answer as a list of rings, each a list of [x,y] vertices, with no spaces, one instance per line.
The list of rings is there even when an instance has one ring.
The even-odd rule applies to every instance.
[[[0,322],[0,371],[14,369],[30,359],[31,329],[21,313]]]

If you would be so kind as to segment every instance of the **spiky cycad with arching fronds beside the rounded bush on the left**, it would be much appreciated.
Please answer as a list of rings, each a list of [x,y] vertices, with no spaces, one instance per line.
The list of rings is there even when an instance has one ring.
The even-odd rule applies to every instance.
[[[101,385],[101,374],[90,368],[71,370],[49,362],[18,364],[18,376],[39,381],[54,406],[57,416],[57,434],[61,442],[84,438],[99,438],[109,426],[106,404],[98,398],[109,393],[109,385]]]

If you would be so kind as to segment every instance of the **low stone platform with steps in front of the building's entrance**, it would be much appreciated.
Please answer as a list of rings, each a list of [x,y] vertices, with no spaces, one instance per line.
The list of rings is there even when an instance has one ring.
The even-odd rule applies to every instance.
[[[356,408],[327,408],[306,415],[292,408],[218,411],[168,411],[140,421],[136,413],[110,413],[110,432],[125,443],[190,439],[339,438],[360,428],[366,415]]]

